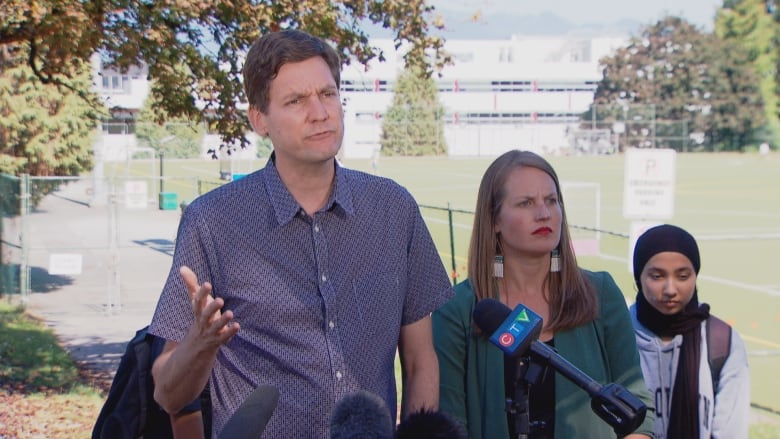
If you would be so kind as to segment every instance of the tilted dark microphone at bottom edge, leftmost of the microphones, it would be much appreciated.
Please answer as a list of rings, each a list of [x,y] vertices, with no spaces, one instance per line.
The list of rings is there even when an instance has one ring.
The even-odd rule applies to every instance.
[[[219,439],[257,439],[279,402],[276,387],[261,385],[241,403],[219,433]]]

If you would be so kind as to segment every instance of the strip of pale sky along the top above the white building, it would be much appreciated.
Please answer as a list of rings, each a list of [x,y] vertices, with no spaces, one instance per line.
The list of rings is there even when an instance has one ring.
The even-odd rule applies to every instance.
[[[723,0],[429,0],[437,10],[468,20],[480,11],[483,16],[505,14],[534,16],[555,14],[574,24],[608,23],[623,19],[642,23],[668,14],[682,16],[705,30],[711,30],[715,11]],[[457,14],[457,15],[456,15]],[[488,25],[490,23],[487,23]]]

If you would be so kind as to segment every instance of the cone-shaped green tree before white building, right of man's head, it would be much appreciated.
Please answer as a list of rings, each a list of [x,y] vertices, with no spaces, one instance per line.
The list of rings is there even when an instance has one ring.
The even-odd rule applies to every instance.
[[[382,120],[382,152],[439,155],[447,152],[444,107],[433,78],[409,67],[398,76],[393,102]]]

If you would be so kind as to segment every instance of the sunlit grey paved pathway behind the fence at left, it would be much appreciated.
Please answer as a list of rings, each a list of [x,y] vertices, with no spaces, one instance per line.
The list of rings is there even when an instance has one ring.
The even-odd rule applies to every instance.
[[[33,292],[28,310],[54,330],[74,359],[113,372],[128,340],[152,318],[170,269],[180,212],[151,204],[90,207],[83,201],[88,187],[88,182],[71,183],[29,216]],[[115,251],[112,234],[118,237]],[[51,255],[80,256],[81,273],[49,274]],[[121,306],[108,306],[117,302]]]

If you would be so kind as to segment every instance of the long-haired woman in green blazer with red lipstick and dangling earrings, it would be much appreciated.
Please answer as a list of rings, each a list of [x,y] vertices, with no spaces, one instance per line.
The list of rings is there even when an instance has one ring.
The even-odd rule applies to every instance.
[[[650,396],[625,299],[612,277],[577,266],[558,177],[542,157],[509,151],[487,169],[477,195],[469,278],[433,314],[439,358],[439,408],[472,439],[518,437],[505,411],[513,397],[515,360],[472,323],[485,298],[509,308],[522,303],[544,319],[539,340],[596,381],[618,383],[649,410],[626,437],[652,436]],[[505,378],[507,377],[507,378]],[[588,394],[549,370],[529,391],[530,438],[608,438],[612,427],[590,407]]]

